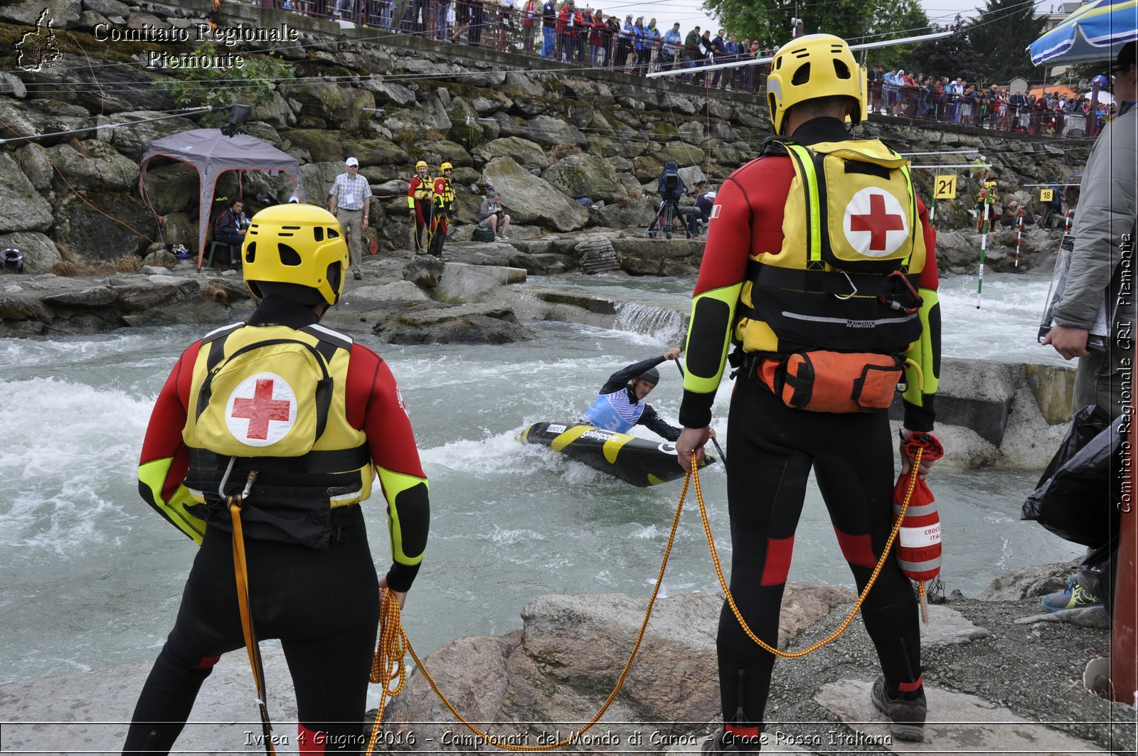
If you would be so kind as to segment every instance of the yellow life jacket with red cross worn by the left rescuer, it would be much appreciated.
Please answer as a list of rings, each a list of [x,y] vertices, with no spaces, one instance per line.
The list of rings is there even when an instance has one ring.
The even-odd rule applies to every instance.
[[[187,510],[229,529],[225,499],[245,490],[251,539],[327,548],[343,508],[371,495],[366,437],[346,412],[352,339],[321,326],[245,326],[203,339],[182,438]]]

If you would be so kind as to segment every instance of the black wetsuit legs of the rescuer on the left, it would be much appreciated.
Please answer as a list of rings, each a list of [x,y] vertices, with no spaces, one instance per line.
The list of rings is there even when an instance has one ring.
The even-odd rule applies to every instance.
[[[124,754],[168,751],[215,657],[245,646],[230,539],[220,528],[206,529],[174,630],[139,697]],[[357,736],[379,592],[362,513],[355,508],[327,551],[248,539],[245,545],[254,626],[258,640],[281,640],[300,725],[327,736],[328,753],[365,749]],[[269,696],[272,713],[272,690]]]

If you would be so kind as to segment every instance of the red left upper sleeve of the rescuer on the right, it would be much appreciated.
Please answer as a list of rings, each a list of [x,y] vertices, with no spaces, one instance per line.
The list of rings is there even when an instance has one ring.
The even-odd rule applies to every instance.
[[[793,178],[790,158],[772,156],[751,161],[723,182],[711,206],[696,296],[739,284],[750,255],[782,248],[783,207]]]

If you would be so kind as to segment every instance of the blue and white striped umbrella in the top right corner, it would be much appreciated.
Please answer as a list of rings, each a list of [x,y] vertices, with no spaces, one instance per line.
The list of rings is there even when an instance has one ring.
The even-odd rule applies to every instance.
[[[1033,65],[1099,63],[1138,40],[1138,0],[1092,0],[1032,42]]]

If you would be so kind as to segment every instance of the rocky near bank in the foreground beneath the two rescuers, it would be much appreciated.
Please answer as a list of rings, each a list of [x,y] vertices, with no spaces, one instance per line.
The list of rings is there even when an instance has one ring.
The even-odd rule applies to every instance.
[[[1106,614],[1040,614],[1039,595],[1061,587],[1071,568],[1019,570],[993,581],[983,595],[954,593],[930,607],[930,623],[922,625],[929,698],[924,743],[889,738],[868,696],[876,656],[855,621],[831,646],[776,664],[764,753],[1133,753],[1133,708],[1102,698],[1082,679],[1090,659],[1108,654]],[[801,649],[826,636],[852,599],[848,589],[791,585],[780,647]],[[659,600],[620,693],[600,723],[564,749],[699,751],[718,715],[720,603],[709,594]],[[628,659],[645,608],[646,599],[627,595],[535,597],[519,606],[521,630],[462,638],[423,663],[468,720],[501,742],[538,746],[564,738],[599,710]],[[407,613],[413,611],[412,598]],[[297,753],[296,707],[283,657],[270,649],[265,659],[278,753]],[[0,685],[6,751],[117,753],[149,666],[141,662]],[[179,748],[259,750],[251,690],[245,655],[226,655],[198,697],[193,724]],[[388,704],[380,746],[404,753],[495,750],[476,741],[418,669]]]

